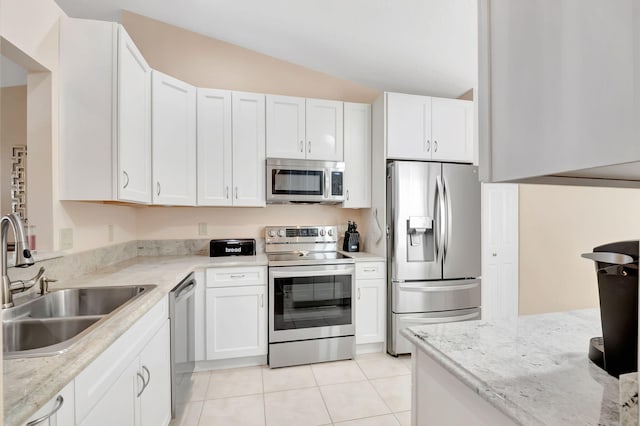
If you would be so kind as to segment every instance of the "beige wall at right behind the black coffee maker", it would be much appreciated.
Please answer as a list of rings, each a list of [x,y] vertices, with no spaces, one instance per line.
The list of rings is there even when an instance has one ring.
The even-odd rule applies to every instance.
[[[640,190],[520,185],[520,314],[598,307],[594,247],[640,237]]]

